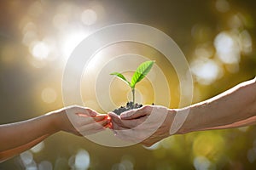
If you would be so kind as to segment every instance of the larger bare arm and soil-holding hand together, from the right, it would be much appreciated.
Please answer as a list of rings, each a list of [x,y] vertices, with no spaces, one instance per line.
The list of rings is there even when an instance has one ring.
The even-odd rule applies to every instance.
[[[256,124],[256,78],[242,82],[236,87],[201,103],[182,109],[166,108],[166,111],[161,110],[167,112],[165,121],[160,127],[155,128],[156,131],[148,138],[140,138],[143,131],[150,127],[144,126],[137,131],[133,129],[140,124],[143,126],[142,123],[147,120],[150,114],[153,114],[152,110],[158,107],[160,106],[146,105],[137,110],[126,111],[120,116],[110,113],[113,131],[120,139],[137,138],[141,144],[151,146],[172,134],[254,125]],[[172,123],[178,123],[174,122],[174,117],[183,114],[184,111],[189,111],[189,115],[175,133],[170,133]],[[160,114],[160,112],[154,112],[154,114]],[[159,122],[152,120],[151,123],[157,124]]]

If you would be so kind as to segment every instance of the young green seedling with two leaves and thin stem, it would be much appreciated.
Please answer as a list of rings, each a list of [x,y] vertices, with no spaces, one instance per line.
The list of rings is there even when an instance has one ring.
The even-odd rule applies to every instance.
[[[139,65],[137,67],[137,70],[131,77],[131,82],[128,82],[127,79],[125,78],[125,76],[119,72],[113,72],[110,74],[110,75],[119,77],[122,81],[124,81],[125,83],[127,83],[130,86],[131,93],[132,93],[132,105],[133,106],[135,105],[135,85],[137,84],[137,82],[140,82],[141,80],[143,80],[144,77],[146,77],[148,72],[151,70],[153,64],[154,64],[154,61],[146,61],[146,62],[143,62],[141,65]]]

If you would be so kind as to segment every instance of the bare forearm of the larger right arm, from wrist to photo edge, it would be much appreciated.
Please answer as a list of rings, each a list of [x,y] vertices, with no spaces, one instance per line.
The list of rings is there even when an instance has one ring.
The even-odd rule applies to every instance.
[[[177,110],[189,110],[189,116],[178,133],[241,127],[255,123],[256,82],[242,82],[234,88],[196,105]]]

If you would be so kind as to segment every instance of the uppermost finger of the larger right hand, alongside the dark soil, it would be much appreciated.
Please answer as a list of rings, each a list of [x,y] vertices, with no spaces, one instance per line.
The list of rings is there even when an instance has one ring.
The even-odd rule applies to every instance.
[[[149,111],[149,113],[148,113]],[[145,105],[142,108],[139,108],[137,110],[131,110],[131,111],[125,111],[120,115],[121,119],[128,120],[128,119],[137,119],[142,116],[147,116],[150,114],[150,106]]]

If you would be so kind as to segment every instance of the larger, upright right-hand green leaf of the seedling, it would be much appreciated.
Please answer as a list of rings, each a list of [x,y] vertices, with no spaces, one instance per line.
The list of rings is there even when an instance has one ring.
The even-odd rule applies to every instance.
[[[151,70],[153,64],[154,61],[146,61],[137,67],[136,72],[131,77],[131,88],[134,88],[137,82],[140,82],[141,80],[143,80],[144,77],[146,77],[148,72]]]

